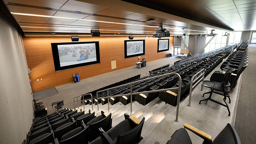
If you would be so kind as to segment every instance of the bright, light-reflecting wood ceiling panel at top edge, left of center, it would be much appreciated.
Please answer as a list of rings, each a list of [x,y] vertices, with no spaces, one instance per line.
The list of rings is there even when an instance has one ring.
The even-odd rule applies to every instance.
[[[81,12],[95,14],[96,12],[100,12],[102,10],[108,9],[109,7],[89,4],[86,2],[80,2],[75,0],[69,0],[61,8],[66,10],[81,11]]]

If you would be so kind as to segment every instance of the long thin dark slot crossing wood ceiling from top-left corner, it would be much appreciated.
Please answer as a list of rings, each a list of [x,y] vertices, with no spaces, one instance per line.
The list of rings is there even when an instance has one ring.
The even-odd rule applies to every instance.
[[[43,6],[34,6],[34,5],[26,5],[26,4],[17,4],[14,2],[7,2],[7,5],[13,5],[13,6],[23,6],[23,7],[30,7],[35,9],[43,9],[43,10],[52,10],[52,11],[61,11],[61,12],[69,12],[74,14],[82,14],[82,15],[88,15],[88,16],[100,16],[100,17],[108,17],[108,18],[116,18],[121,20],[128,20],[128,21],[137,21],[137,22],[146,22],[142,20],[133,20],[130,18],[123,18],[123,17],[114,17],[114,16],[106,16],[106,15],[98,15],[98,14],[91,14],[88,12],[81,12],[81,11],[73,11],[73,10],[65,10],[65,9],[57,9],[57,8],[51,8],[51,7],[43,7]],[[169,24],[163,24],[163,23],[157,23],[154,22],[157,25],[165,25],[165,26],[174,26],[174,27],[183,27],[183,26],[175,26],[175,25],[169,25]],[[152,25],[152,24],[151,24]],[[183,27],[188,28],[188,27]]]

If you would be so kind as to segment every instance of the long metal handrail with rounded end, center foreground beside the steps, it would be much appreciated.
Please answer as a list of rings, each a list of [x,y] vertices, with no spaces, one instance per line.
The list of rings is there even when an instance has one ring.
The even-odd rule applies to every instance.
[[[162,76],[169,76],[169,75],[177,75],[178,76],[178,79],[179,79],[178,87],[169,88],[169,89],[161,89],[161,90],[152,90],[152,91],[132,92],[132,85],[135,84],[135,83],[143,82],[143,81],[147,81],[147,80],[151,80],[151,79],[155,79],[155,78],[161,78]],[[108,91],[111,90],[111,89],[116,89],[118,87],[127,86],[127,85],[130,85],[130,93],[129,94],[116,95],[116,96],[111,96],[111,97],[119,97],[119,96],[130,95],[130,114],[132,114],[132,95],[143,94],[143,93],[152,93],[152,92],[161,92],[161,91],[167,91],[167,90],[178,90],[177,111],[176,111],[176,119],[175,119],[175,121],[178,122],[178,111],[179,111],[179,107],[180,107],[180,94],[181,94],[181,76],[179,74],[172,72],[172,73],[163,74],[163,75],[159,75],[159,76],[154,76],[154,77],[143,79],[143,80],[138,80],[138,81],[130,82],[128,84],[123,84],[123,85],[111,87],[109,89],[97,91],[96,95],[97,95],[98,111],[99,111],[98,92],[107,91],[107,97],[100,97],[100,98],[107,98],[107,100],[108,100],[108,112],[109,112],[110,111],[110,105],[109,105],[109,98],[110,97],[109,97]]]

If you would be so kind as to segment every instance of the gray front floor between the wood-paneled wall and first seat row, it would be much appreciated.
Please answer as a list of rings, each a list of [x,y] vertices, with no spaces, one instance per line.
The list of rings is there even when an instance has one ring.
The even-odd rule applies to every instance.
[[[97,75],[87,79],[82,79],[80,80],[80,82],[71,82],[68,84],[56,86],[55,88],[58,91],[57,95],[40,99],[37,102],[43,102],[43,105],[47,107],[48,113],[54,112],[54,109],[52,109],[51,104],[55,101],[64,100],[64,107],[74,108],[73,97],[81,96],[82,94],[86,94],[87,92],[97,90],[101,87],[113,84],[115,82],[130,78],[138,74],[141,74],[141,77],[143,77],[149,70],[158,68],[162,65],[173,64],[177,60],[180,59],[175,57],[158,59],[152,62],[147,62],[146,67],[140,69],[135,68],[134,64],[134,66],[129,68],[112,71],[110,73]],[[77,107],[77,104],[75,105]],[[79,106],[81,106],[81,103],[79,103]]]

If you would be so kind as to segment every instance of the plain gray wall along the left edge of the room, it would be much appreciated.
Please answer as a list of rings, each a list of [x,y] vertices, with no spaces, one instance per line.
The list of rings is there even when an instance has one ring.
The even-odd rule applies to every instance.
[[[0,143],[20,144],[32,124],[33,105],[22,36],[0,7]]]

